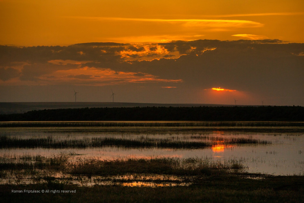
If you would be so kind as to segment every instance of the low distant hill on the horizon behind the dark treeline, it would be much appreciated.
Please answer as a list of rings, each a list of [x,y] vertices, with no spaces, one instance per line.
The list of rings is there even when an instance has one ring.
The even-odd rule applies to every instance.
[[[163,104],[163,103],[119,103],[119,102],[0,102],[0,114],[21,114],[32,110],[112,108],[112,107],[222,107],[222,104]],[[238,105],[239,106],[239,105]]]

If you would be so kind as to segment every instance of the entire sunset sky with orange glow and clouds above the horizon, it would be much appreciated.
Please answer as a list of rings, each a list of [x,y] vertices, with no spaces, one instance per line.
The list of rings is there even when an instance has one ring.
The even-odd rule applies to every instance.
[[[0,0],[0,102],[304,106],[302,0]]]

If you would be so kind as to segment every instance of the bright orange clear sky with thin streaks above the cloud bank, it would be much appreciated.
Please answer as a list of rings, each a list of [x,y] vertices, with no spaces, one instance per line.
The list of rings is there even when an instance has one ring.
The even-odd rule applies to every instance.
[[[302,0],[1,0],[0,44],[279,39],[304,42]]]

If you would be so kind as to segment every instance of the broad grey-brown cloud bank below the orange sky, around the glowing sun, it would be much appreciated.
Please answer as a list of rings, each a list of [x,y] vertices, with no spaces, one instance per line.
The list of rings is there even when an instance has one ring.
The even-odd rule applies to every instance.
[[[0,46],[0,92],[20,100],[6,91],[100,87],[132,102],[304,105],[303,52],[303,44],[270,39]],[[204,91],[215,87],[227,91]]]

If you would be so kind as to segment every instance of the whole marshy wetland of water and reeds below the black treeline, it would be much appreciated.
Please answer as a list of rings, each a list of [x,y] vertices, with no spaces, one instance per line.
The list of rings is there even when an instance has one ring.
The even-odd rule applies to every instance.
[[[188,190],[215,192],[226,184],[232,193],[226,194],[227,189],[225,195],[231,199],[240,189],[237,186],[245,188],[242,184],[252,184],[264,194],[274,190],[277,181],[287,181],[283,185],[288,183],[293,197],[303,190],[294,188],[304,175],[301,122],[56,121],[0,126],[2,191],[35,186],[89,190],[94,196],[100,190],[110,194],[109,188],[138,194],[150,188],[149,195],[157,191],[186,195]],[[206,184],[209,187],[203,189]],[[207,196],[198,195],[193,201],[211,198]]]

